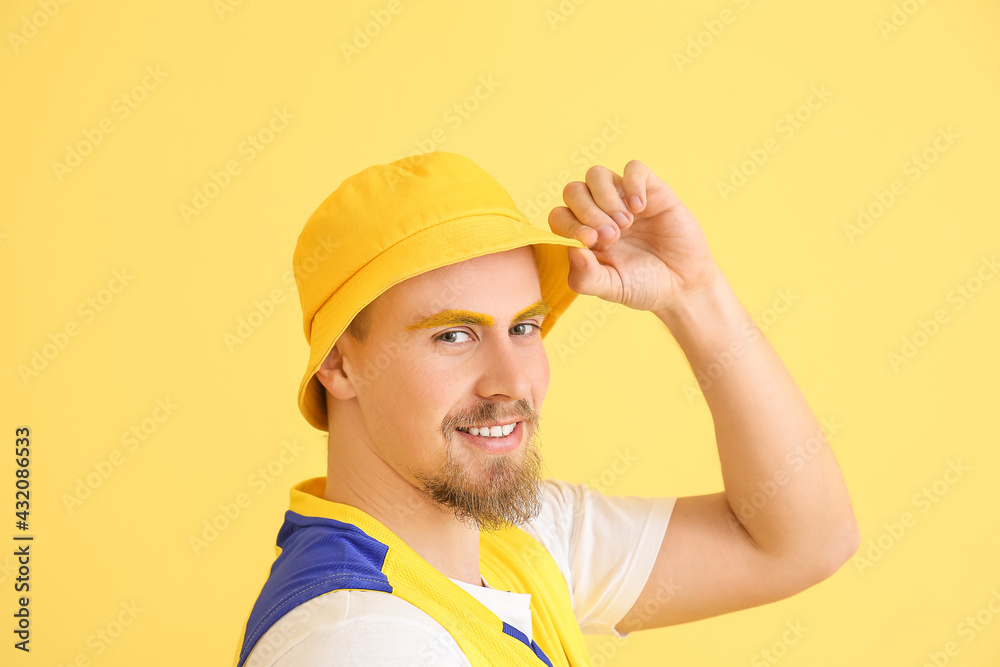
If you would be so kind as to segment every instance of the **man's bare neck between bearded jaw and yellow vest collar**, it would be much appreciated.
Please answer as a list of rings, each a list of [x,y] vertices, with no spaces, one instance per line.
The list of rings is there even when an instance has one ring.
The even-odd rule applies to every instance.
[[[446,577],[482,586],[478,528],[458,520],[370,447],[356,443],[336,439],[330,431],[323,497],[370,514]]]

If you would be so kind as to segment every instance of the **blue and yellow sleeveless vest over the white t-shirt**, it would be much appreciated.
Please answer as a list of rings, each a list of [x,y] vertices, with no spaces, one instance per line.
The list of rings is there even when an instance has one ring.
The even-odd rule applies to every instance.
[[[531,594],[530,643],[374,517],[323,498],[325,486],[325,477],[314,477],[292,487],[277,558],[244,626],[234,667],[243,667],[286,613],[342,589],[381,591],[410,602],[448,631],[474,667],[590,665],[566,580],[526,532],[480,533],[479,567],[494,588]]]

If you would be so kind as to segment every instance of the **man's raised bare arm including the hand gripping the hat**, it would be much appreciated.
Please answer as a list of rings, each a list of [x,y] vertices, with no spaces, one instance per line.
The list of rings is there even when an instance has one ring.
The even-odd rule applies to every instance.
[[[670,330],[712,412],[725,485],[677,499],[619,631],[753,607],[829,577],[860,539],[840,468],[694,215],[638,160],[622,175],[592,167],[563,198],[550,226],[587,245],[567,249],[569,286],[649,310]]]

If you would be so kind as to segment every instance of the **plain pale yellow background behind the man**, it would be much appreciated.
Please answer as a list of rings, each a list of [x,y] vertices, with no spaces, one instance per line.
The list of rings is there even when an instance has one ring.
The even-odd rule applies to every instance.
[[[698,216],[817,416],[837,424],[858,556],[873,545],[878,556],[870,567],[854,560],[753,610],[588,637],[595,665],[922,665],[950,641],[959,652],[948,664],[998,664],[1000,614],[971,638],[959,630],[1000,590],[1000,279],[990,274],[961,308],[952,291],[976,287],[983,258],[1000,251],[997,4],[393,7],[3,4],[0,662],[230,664],[288,487],[325,473],[324,434],[294,400],[307,356],[287,280],[296,237],[344,178],[430,146],[476,160],[543,227],[561,203],[548,192],[590,164],[646,162]],[[369,25],[377,34],[364,44],[356,29],[372,12],[391,20]],[[356,39],[364,48],[345,53]],[[679,59],[685,51],[696,57]],[[147,76],[157,68],[159,81]],[[800,108],[811,89],[829,97]],[[122,95],[135,107],[127,117]],[[250,160],[241,144],[275,109],[294,118]],[[808,118],[788,136],[780,122],[795,113]],[[53,166],[102,121],[112,131],[79,166]],[[777,151],[724,198],[719,183],[769,139]],[[925,151],[933,164],[912,180],[908,161]],[[213,172],[225,181],[233,160],[239,173],[185,220],[181,205]],[[902,194],[850,237],[858,207],[878,211],[896,180]],[[781,290],[794,299],[778,313]],[[273,312],[227,344],[266,299]],[[934,329],[926,321],[941,309]],[[601,302],[579,298],[546,341],[548,474],[615,494],[721,490],[711,415],[676,343],[650,313],[619,307],[588,324],[598,312]],[[934,335],[917,335],[917,353],[893,364],[921,320]],[[22,376],[43,351],[45,367]],[[160,422],[157,400],[176,406]],[[11,450],[23,425],[30,654],[11,632]],[[121,438],[133,427],[148,433],[130,449]],[[283,447],[296,453],[282,461]],[[108,463],[115,450],[119,465]],[[626,455],[634,462],[615,473]],[[952,462],[968,470],[941,481]],[[68,507],[102,465],[110,476]],[[269,465],[276,474],[261,481]],[[924,488],[933,504],[918,502]],[[196,553],[190,538],[224,524],[220,504],[239,494],[249,506]],[[906,512],[915,522],[897,539]],[[97,639],[119,617],[121,634]],[[775,649],[796,622],[805,634]],[[765,650],[782,655],[769,662]]]

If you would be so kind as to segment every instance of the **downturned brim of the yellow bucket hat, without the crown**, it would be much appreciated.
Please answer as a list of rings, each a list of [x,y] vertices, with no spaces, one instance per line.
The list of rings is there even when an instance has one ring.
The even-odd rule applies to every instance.
[[[569,261],[564,247],[586,248],[577,240],[558,236],[502,215],[476,215],[441,222],[384,250],[351,276],[316,311],[310,331],[309,363],[299,384],[299,410],[315,428],[326,431],[326,390],[316,371],[330,354],[351,320],[393,285],[413,276],[474,257],[534,246],[542,299],[552,306],[542,336],[576,298],[569,288]],[[428,261],[427,258],[434,258]]]

